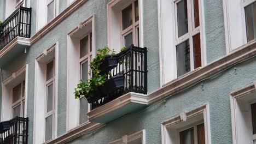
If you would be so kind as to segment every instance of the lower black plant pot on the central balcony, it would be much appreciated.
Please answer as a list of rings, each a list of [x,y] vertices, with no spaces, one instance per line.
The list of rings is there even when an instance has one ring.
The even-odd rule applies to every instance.
[[[109,94],[122,87],[124,87],[124,76],[117,75],[117,76],[110,77],[110,79],[108,79],[104,83],[104,86],[101,87],[100,89],[101,89],[101,93]]]

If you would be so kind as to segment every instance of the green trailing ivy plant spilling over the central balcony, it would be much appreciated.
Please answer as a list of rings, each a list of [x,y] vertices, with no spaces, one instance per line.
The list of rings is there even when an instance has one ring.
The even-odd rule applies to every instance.
[[[90,63],[90,71],[89,75],[91,79],[89,80],[79,80],[77,88],[75,88],[75,99],[79,99],[81,97],[85,97],[87,100],[96,97],[98,87],[102,86],[104,82],[107,80],[106,75],[100,75],[100,65],[104,61],[104,58],[108,55],[115,55],[114,51],[110,51],[108,47],[103,47],[102,49],[97,50],[96,56],[92,59]]]

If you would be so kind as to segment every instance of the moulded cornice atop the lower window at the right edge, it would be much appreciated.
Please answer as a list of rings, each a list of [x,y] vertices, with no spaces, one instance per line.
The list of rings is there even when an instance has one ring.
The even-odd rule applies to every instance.
[[[232,97],[234,97],[235,99],[238,99],[238,98],[241,98],[241,97],[245,96],[246,94],[253,93],[255,91],[256,91],[256,89],[255,89],[255,85],[253,83],[253,84],[248,85],[246,87],[237,89],[234,92],[231,92],[230,95],[232,95]]]

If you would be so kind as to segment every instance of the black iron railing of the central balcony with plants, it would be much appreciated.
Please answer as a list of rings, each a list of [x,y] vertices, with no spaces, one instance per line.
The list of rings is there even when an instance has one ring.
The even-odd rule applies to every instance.
[[[106,74],[108,78],[124,76],[124,86],[116,91],[103,94],[91,103],[91,109],[104,105],[129,92],[147,94],[147,48],[131,45],[117,54],[118,65]]]

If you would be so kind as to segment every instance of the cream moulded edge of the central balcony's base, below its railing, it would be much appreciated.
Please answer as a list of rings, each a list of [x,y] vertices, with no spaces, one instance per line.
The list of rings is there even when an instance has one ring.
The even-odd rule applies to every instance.
[[[148,104],[147,95],[139,94],[139,93],[127,93],[117,99],[110,101],[107,104],[104,104],[96,109],[88,112],[88,119],[91,121],[92,119],[98,118],[100,116],[105,115],[111,111],[117,110],[124,105],[129,103],[139,103],[139,104]]]

